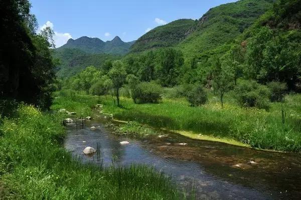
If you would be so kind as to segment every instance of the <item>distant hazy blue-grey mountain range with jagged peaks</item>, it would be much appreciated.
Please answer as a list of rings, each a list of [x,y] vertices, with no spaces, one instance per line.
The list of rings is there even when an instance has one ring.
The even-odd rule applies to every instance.
[[[76,40],[69,39],[67,44],[56,49],[56,51],[61,51],[63,49],[79,49],[85,53],[89,54],[119,54],[123,55],[129,51],[132,46],[132,42],[123,42],[118,36],[116,36],[112,41],[103,42],[99,38],[89,38],[83,36]]]

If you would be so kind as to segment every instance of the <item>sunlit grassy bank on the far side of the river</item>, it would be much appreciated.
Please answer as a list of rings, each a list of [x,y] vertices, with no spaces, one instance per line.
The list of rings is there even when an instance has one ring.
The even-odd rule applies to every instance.
[[[75,96],[75,102],[89,99],[89,103],[104,104],[103,112],[112,113],[120,120],[235,139],[262,149],[301,150],[301,95],[287,95],[284,103],[271,103],[269,111],[241,108],[230,97],[225,98],[224,108],[214,96],[202,107],[190,107],[185,99],[165,98],[159,104],[134,104],[131,99],[122,98],[119,108],[110,97],[101,97],[98,101],[98,97]],[[56,107],[62,108],[59,105],[68,98],[59,97]]]

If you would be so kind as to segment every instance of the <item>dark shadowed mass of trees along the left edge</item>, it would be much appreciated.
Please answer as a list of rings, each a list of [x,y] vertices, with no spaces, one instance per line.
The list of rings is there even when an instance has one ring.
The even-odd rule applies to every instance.
[[[0,2],[0,98],[48,109],[55,76],[53,31],[47,28],[37,34],[37,20],[30,8],[27,0]]]

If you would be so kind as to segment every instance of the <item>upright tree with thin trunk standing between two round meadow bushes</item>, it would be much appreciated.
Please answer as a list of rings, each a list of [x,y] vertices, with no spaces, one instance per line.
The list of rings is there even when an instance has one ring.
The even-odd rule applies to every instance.
[[[222,66],[222,63],[218,57],[216,57],[216,61],[213,65],[212,80],[213,80],[213,89],[219,95],[221,105],[223,107],[224,95],[233,87],[233,73],[231,72],[229,66],[227,65]]]

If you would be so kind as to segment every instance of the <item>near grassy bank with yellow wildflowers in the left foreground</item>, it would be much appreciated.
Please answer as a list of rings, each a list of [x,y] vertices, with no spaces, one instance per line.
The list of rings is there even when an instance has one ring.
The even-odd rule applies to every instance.
[[[171,180],[152,168],[99,168],[74,160],[60,145],[61,114],[20,105],[0,125],[0,198],[183,199]]]

